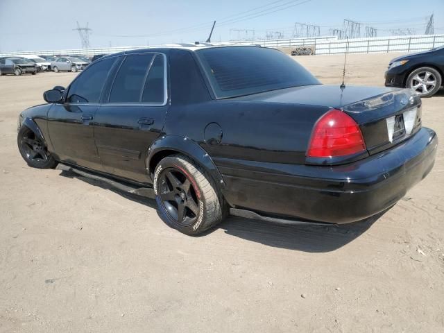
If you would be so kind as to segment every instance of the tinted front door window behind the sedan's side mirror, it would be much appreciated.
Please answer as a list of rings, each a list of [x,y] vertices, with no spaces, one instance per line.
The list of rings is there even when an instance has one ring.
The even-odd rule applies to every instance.
[[[88,66],[71,84],[68,103],[99,103],[100,94],[116,58],[108,58]]]

